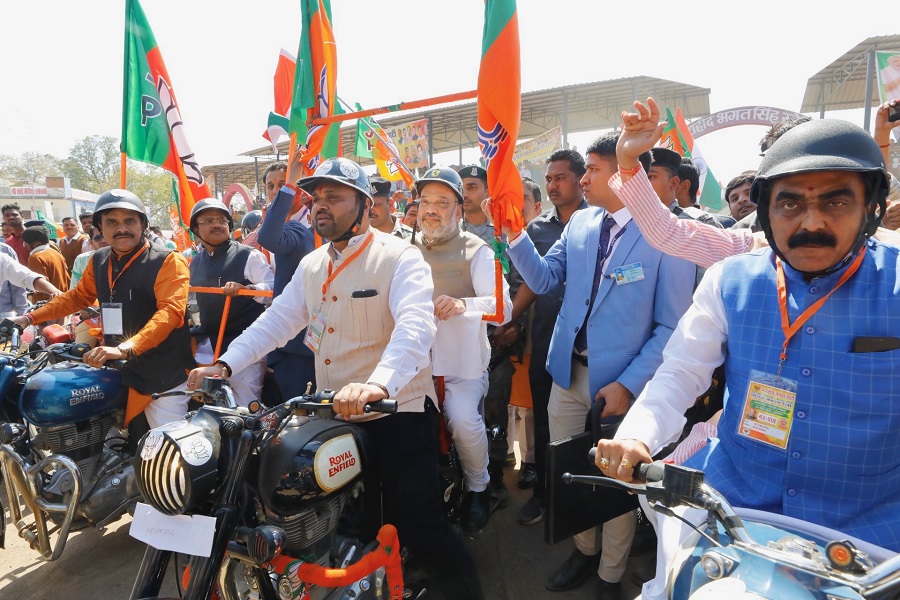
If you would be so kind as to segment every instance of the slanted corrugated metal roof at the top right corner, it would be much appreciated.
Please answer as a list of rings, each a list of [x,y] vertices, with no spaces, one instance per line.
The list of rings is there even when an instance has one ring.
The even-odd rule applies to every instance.
[[[871,109],[872,106],[878,106],[880,102],[875,91],[875,74],[869,72],[870,61],[874,66],[875,50],[900,51],[900,35],[866,38],[810,77],[806,83],[800,112],[823,114],[826,110]],[[867,83],[870,84],[869,95]],[[868,111],[866,122],[868,123]]]

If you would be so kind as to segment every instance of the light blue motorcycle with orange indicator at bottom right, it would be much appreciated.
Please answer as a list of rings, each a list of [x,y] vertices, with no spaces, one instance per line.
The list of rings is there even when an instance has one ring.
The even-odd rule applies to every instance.
[[[654,510],[694,529],[668,567],[669,598],[900,598],[900,555],[799,519],[735,509],[704,483],[702,471],[657,461],[635,467],[635,478],[646,483],[563,474],[565,483],[646,496]],[[696,526],[671,510],[679,506],[706,511],[706,523]]]

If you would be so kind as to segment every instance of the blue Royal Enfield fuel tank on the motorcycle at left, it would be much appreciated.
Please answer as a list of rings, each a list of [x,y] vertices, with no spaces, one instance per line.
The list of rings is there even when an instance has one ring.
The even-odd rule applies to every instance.
[[[121,373],[74,362],[46,367],[28,380],[19,396],[19,410],[37,427],[77,423],[125,408],[128,393]]]

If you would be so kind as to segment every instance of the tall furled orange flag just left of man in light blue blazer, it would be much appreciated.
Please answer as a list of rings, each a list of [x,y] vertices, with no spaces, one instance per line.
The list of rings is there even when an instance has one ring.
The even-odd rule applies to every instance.
[[[486,0],[478,70],[478,144],[488,173],[498,237],[503,226],[515,231],[524,226],[522,178],[513,162],[521,109],[516,2]]]

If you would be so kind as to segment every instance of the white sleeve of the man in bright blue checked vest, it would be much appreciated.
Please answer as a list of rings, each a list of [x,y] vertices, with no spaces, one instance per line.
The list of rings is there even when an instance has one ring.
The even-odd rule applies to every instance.
[[[728,321],[721,288],[719,262],[697,286],[693,305],[663,350],[662,365],[619,425],[616,439],[639,440],[650,454],[678,439],[684,411],[709,387],[713,371],[725,360]]]

